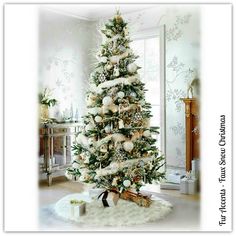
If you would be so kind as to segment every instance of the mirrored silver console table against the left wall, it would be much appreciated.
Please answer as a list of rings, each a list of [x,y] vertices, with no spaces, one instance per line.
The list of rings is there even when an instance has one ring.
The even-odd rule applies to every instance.
[[[80,130],[80,123],[41,123],[40,133],[40,174],[46,174],[48,185],[52,184],[52,178],[57,172],[64,173],[65,168],[71,164],[71,146]],[[60,138],[61,155],[55,158],[55,141]],[[58,144],[57,144],[58,146]]]

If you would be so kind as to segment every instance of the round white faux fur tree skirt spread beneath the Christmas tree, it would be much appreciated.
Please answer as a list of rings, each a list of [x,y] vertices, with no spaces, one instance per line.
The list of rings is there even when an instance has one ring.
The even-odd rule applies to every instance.
[[[86,214],[80,217],[71,215],[70,200],[86,201]],[[55,204],[58,216],[87,226],[132,226],[163,219],[172,211],[172,205],[161,198],[153,197],[149,208],[119,199],[117,206],[103,207],[101,200],[92,200],[88,193],[70,194]]]

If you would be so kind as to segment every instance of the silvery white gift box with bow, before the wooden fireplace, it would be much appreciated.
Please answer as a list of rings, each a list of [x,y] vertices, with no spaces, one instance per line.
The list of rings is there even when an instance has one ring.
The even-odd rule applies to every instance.
[[[197,179],[187,178],[182,176],[180,179],[180,193],[182,194],[196,194],[197,193]]]

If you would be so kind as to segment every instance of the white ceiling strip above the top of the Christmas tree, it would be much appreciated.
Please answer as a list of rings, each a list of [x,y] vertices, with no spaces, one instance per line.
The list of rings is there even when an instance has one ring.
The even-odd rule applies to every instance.
[[[155,4],[52,4],[47,9],[61,14],[70,15],[84,20],[96,21],[111,17],[116,9],[122,14],[141,11],[156,7]]]

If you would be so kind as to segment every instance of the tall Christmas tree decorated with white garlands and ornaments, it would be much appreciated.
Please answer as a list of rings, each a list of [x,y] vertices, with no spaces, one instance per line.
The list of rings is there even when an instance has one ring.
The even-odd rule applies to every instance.
[[[101,29],[103,43],[90,76],[87,113],[73,146],[69,179],[95,183],[120,193],[164,177],[164,156],[155,147],[149,126],[151,105],[129,44],[127,23],[117,12]]]

